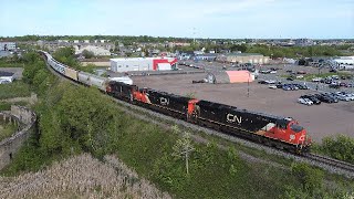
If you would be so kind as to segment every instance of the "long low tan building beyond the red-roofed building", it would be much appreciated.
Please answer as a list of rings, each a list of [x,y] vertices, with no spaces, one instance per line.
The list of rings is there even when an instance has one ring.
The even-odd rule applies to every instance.
[[[216,59],[218,62],[228,63],[251,63],[251,64],[267,64],[269,63],[269,56],[263,56],[259,53],[230,53],[220,54]]]

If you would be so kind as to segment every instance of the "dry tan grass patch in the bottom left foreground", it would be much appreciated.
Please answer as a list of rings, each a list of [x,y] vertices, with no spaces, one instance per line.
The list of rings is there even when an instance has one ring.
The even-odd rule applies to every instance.
[[[0,177],[0,198],[170,198],[114,156],[84,154],[46,170]]]

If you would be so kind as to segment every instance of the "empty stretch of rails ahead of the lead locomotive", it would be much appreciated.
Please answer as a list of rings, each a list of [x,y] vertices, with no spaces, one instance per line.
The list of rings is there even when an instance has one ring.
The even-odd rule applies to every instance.
[[[304,157],[354,174],[354,165],[317,154],[305,154]]]

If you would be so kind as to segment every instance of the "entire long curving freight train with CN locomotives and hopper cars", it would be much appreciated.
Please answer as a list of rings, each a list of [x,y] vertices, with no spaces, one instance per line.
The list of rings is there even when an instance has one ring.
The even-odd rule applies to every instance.
[[[39,52],[48,64],[63,76],[84,85],[96,86],[115,98],[291,153],[302,154],[310,149],[311,140],[306,130],[293,118],[110,81],[73,70],[55,61],[49,53]]]

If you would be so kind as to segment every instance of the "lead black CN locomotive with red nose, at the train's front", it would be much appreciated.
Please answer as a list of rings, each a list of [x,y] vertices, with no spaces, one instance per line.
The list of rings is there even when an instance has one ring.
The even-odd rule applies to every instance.
[[[191,118],[230,134],[270,144],[278,142],[277,146],[295,151],[309,146],[306,130],[292,118],[239,109],[208,101],[195,101],[192,108],[188,109],[189,114],[194,113]]]

